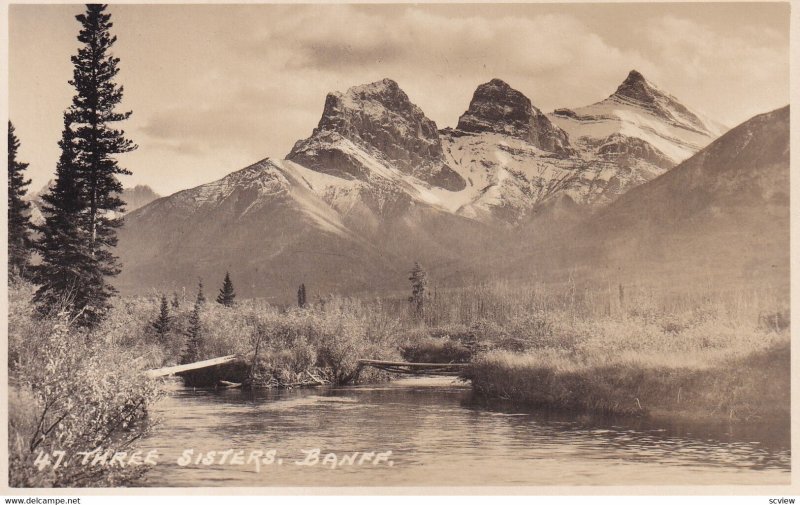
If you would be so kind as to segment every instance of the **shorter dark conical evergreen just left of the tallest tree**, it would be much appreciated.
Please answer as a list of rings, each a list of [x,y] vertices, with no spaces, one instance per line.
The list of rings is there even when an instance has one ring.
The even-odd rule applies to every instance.
[[[44,224],[37,227],[39,240],[35,247],[42,260],[33,267],[33,280],[39,285],[34,303],[42,315],[64,309],[73,315],[82,312],[77,322],[91,325],[98,314],[86,310],[92,299],[88,285],[95,281],[97,270],[86,231],[80,226],[85,205],[76,169],[75,134],[68,114],[64,114],[59,147],[55,182],[42,196]]]

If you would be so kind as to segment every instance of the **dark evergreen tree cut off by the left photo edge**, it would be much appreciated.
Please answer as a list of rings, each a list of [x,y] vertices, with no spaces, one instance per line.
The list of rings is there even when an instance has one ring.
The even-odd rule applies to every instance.
[[[17,160],[19,139],[14,125],[8,122],[8,272],[24,276],[30,259],[31,241],[28,211],[31,204],[22,198],[31,183],[25,179],[27,163]]]

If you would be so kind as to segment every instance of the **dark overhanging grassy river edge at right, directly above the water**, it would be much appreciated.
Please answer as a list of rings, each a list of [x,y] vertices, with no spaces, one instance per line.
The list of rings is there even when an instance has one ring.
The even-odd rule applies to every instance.
[[[477,394],[516,404],[666,420],[769,420],[788,430],[789,335],[761,336],[757,350],[739,352],[490,352],[467,378]]]

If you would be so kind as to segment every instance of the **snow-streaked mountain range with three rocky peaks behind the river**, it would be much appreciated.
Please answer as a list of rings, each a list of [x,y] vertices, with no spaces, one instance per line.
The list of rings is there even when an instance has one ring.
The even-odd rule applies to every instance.
[[[745,125],[720,137],[724,126],[635,70],[608,98],[551,114],[493,79],[444,129],[390,79],[355,86],[328,94],[317,127],[285,159],[129,212],[117,284],[176,289],[228,270],[241,295],[288,301],[301,282],[317,293],[405,289],[415,260],[442,284],[597,273],[631,254],[638,259],[630,264],[648,271],[641,256],[655,253],[631,247],[636,237],[662,228],[664,236],[713,236],[736,225],[709,216],[738,215],[745,200],[737,192],[755,214],[768,202],[765,212],[785,213],[788,223],[780,176],[788,180],[788,136],[785,160],[761,166],[780,151],[780,135],[751,156],[766,142],[760,129],[785,123],[788,131],[788,113],[760,118],[745,123],[747,142]],[[747,161],[734,169],[723,159]],[[697,188],[680,186],[689,181]],[[669,219],[648,220],[657,209]],[[656,242],[647,242],[662,251],[652,258],[669,264]],[[685,261],[690,252],[702,253],[692,249]]]

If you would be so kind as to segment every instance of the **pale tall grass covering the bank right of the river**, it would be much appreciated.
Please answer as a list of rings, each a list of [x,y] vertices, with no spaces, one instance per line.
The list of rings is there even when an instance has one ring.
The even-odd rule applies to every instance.
[[[482,335],[468,378],[484,396],[608,413],[788,421],[789,312],[780,292],[664,295],[567,285],[553,293],[498,284],[440,294],[427,317],[471,321],[449,339]]]

